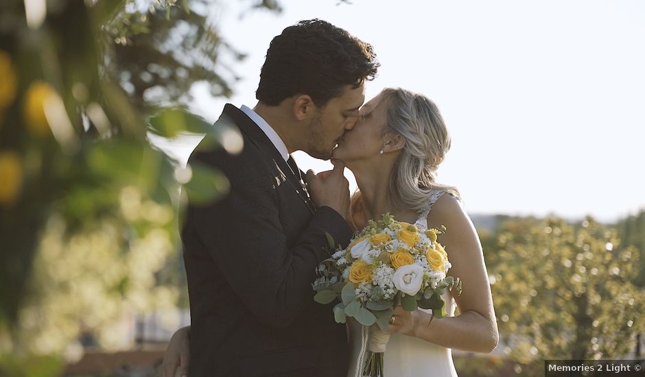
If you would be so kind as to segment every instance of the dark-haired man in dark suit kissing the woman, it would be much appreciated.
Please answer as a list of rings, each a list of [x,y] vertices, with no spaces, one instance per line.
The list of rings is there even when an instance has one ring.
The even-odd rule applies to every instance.
[[[191,155],[222,171],[231,190],[207,206],[189,197],[189,376],[347,374],[345,328],[314,303],[311,284],[329,258],[325,233],[349,242],[348,183],[338,165],[309,173],[307,185],[290,154],[331,158],[377,67],[371,45],[343,29],[315,19],[287,27],[266,53],[255,108],[227,104],[215,123],[239,128],[242,152],[202,142]]]

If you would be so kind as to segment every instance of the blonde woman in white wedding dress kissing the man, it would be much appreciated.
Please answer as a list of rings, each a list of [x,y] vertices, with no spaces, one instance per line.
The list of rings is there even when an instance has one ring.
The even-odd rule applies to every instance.
[[[384,375],[456,376],[451,349],[491,352],[497,345],[497,323],[482,246],[454,187],[436,183],[436,169],[450,147],[450,136],[438,108],[423,95],[384,89],[360,110],[360,120],[345,132],[333,151],[355,175],[359,191],[352,197],[354,230],[389,212],[397,221],[447,231],[438,236],[452,268],[462,280],[461,295],[444,298],[449,316],[431,319],[432,311],[395,309],[384,354]],[[328,172],[307,180],[324,178]],[[313,296],[313,293],[312,293]],[[458,315],[455,311],[458,309]],[[361,328],[349,321],[350,368],[360,376],[364,363]],[[187,375],[189,327],[175,332],[163,361],[163,376],[177,368]]]

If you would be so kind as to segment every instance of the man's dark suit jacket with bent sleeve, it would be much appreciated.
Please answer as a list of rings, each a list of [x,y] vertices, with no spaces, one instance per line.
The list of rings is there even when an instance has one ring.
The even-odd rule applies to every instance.
[[[190,203],[182,230],[191,311],[190,372],[201,376],[345,376],[347,333],[312,282],[325,232],[347,245],[351,230],[317,210],[279,151],[230,104],[215,123],[239,127],[244,149],[193,152],[191,164],[231,182],[223,199]],[[298,189],[301,194],[296,191]]]

